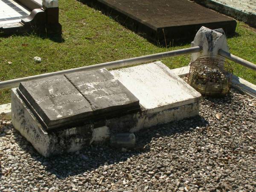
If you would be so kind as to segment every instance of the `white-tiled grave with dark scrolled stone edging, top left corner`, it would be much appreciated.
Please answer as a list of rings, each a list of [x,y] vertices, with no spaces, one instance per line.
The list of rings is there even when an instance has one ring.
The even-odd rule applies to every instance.
[[[61,33],[56,6],[58,0],[0,0],[0,35]]]

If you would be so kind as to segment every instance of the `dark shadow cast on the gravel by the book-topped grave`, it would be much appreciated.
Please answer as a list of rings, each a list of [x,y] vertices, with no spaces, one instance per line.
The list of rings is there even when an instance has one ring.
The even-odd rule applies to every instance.
[[[99,166],[111,165],[126,161],[128,158],[150,151],[151,140],[156,140],[159,137],[176,137],[177,134],[184,132],[192,132],[196,127],[206,127],[208,122],[201,116],[183,119],[176,122],[167,123],[164,125],[154,126],[137,132],[137,146],[127,152],[120,148],[112,148],[108,143],[102,145],[88,145],[84,149],[76,153],[63,154],[55,157],[46,158],[35,151],[33,146],[21,137],[18,131],[14,130],[14,135],[17,143],[28,156],[31,156],[35,163],[40,162],[45,166],[45,170],[56,175],[58,179],[65,179],[69,176],[81,176],[86,171],[101,169]],[[172,149],[172,151],[177,151]],[[45,173],[47,174],[47,173]]]

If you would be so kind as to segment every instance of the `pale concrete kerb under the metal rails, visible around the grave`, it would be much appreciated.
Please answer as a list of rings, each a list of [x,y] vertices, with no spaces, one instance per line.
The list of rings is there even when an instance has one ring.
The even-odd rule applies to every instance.
[[[171,72],[179,77],[184,77],[189,74],[190,66],[172,69]],[[243,93],[256,98],[256,85],[252,84],[238,76],[233,75],[232,87],[242,91]],[[0,115],[11,116],[11,103],[0,105]]]

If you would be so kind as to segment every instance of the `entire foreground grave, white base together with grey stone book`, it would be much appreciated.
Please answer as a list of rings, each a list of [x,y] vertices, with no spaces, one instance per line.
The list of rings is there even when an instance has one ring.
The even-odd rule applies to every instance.
[[[51,76],[12,89],[12,123],[43,156],[199,113],[201,95],[160,61]]]

